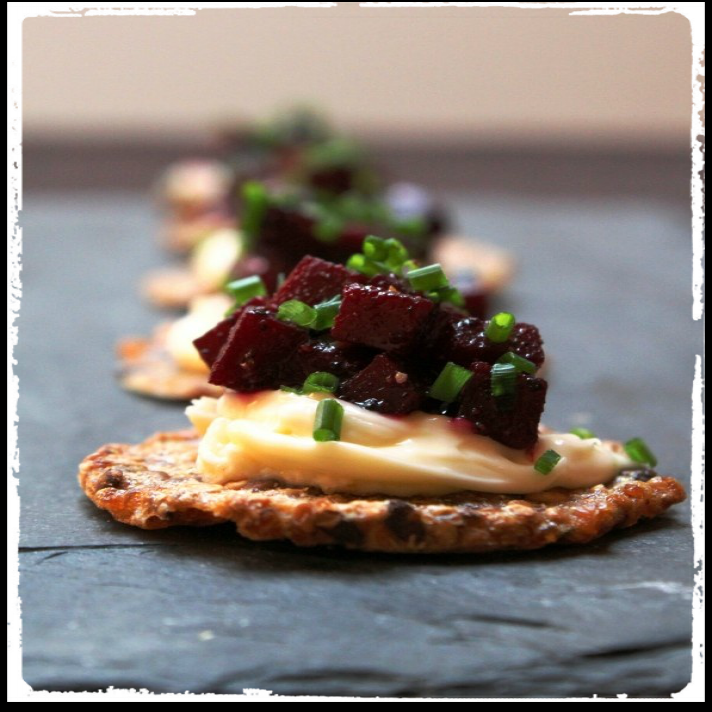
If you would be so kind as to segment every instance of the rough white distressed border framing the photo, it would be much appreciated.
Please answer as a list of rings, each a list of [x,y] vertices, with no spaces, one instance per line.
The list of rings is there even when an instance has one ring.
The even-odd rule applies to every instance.
[[[66,4],[58,2],[14,2],[8,3],[8,701],[10,702],[230,702],[230,701],[326,701],[323,697],[283,697],[272,695],[268,690],[244,690],[243,695],[194,695],[154,694],[147,690],[123,690],[108,688],[102,692],[49,692],[33,691],[22,679],[22,621],[21,601],[18,597],[18,544],[19,544],[19,496],[17,477],[20,469],[21,453],[17,448],[17,401],[19,381],[14,373],[16,361],[13,358],[17,344],[15,320],[21,309],[22,270],[22,230],[19,214],[22,210],[22,22],[28,17],[88,17],[93,15],[195,15],[208,8],[262,8],[262,7],[305,7],[331,8],[332,2],[291,2],[291,3],[135,3],[116,4]],[[674,12],[686,17],[690,23],[693,56],[691,57],[691,102],[692,123],[690,127],[690,150],[692,154],[691,214],[693,234],[692,254],[692,318],[700,321],[704,315],[704,203],[703,203],[703,110],[704,110],[704,46],[705,46],[705,6],[702,2],[680,3],[494,3],[494,2],[450,2],[450,3],[360,3],[364,8],[419,7],[427,11],[431,7],[521,7],[532,9],[571,9],[571,15],[618,15],[647,14],[661,15]],[[692,679],[689,685],[674,694],[670,702],[699,702],[704,700],[704,519],[702,501],[704,496],[704,354],[698,354],[694,364],[692,388],[692,528],[694,535],[695,585],[692,599]],[[349,701],[352,698],[328,698],[335,701]],[[621,697],[623,701],[625,696]],[[388,698],[377,701],[386,702]],[[411,700],[408,700],[411,701]],[[437,702],[436,699],[428,701]],[[458,699],[459,702],[466,701]],[[495,702],[487,698],[483,701]],[[511,700],[522,701],[520,698]],[[537,702],[546,699],[537,698]],[[552,700],[557,701],[557,700]],[[609,701],[593,698],[568,698],[567,701]],[[613,700],[615,701],[615,700]],[[646,701],[636,698],[636,702]]]

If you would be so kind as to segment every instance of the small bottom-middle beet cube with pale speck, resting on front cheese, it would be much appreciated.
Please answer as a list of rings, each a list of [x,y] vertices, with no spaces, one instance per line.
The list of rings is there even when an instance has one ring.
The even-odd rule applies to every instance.
[[[362,408],[405,415],[420,408],[421,389],[403,367],[379,354],[362,371],[341,385],[339,397]]]

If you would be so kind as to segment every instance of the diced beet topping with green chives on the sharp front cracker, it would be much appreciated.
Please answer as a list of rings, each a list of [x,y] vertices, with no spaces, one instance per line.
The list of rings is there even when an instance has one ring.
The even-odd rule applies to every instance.
[[[547,384],[535,326],[468,315],[439,266],[416,269],[397,240],[369,237],[349,265],[304,257],[272,297],[196,339],[210,383],[299,392],[330,374],[334,395],[363,408],[444,413],[512,448],[536,443]]]

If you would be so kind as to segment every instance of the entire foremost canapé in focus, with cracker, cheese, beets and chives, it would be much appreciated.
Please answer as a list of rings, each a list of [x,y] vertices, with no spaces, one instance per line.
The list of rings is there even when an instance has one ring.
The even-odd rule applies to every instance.
[[[543,428],[538,329],[468,315],[441,266],[395,239],[369,236],[347,266],[305,257],[272,293],[244,278],[233,297],[195,340],[224,390],[189,406],[194,430],[82,462],[119,521],[482,552],[585,543],[685,498],[640,438]]]

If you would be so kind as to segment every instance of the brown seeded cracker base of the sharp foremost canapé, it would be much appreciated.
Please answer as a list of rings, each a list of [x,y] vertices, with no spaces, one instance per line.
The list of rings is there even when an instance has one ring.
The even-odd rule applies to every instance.
[[[396,498],[325,494],[277,481],[203,482],[193,431],[138,445],[105,445],[81,463],[87,496],[144,529],[234,522],[249,539],[385,552],[484,552],[582,544],[656,517],[685,499],[682,485],[645,469],[588,489],[532,495],[459,492]]]

